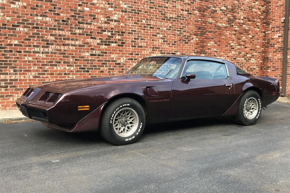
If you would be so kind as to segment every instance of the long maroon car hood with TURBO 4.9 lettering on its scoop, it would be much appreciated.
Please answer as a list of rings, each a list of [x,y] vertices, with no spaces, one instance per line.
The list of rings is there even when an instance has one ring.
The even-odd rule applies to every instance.
[[[156,81],[156,80],[164,80],[166,78],[160,78],[155,76],[148,76],[148,80]],[[96,78],[82,78],[82,79],[71,79],[71,80],[61,80],[55,82],[48,82],[44,84],[35,85],[36,87],[49,87],[53,89],[59,89],[61,91],[70,91],[85,87],[93,87],[104,84],[115,84],[115,83],[123,83],[123,82],[140,82],[146,81],[147,77],[143,75],[135,75],[135,74],[122,74],[115,76],[102,76]]]

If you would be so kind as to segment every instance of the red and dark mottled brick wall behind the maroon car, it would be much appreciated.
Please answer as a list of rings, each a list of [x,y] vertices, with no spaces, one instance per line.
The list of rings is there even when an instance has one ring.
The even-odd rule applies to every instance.
[[[15,109],[31,84],[124,73],[148,47],[149,55],[220,57],[270,75],[271,60],[282,64],[271,47],[271,26],[284,14],[277,2],[0,0],[0,110]]]

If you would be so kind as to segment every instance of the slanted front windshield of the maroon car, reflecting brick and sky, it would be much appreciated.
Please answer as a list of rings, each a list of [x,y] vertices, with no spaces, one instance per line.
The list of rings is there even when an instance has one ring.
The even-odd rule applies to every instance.
[[[177,78],[180,70],[182,60],[180,58],[173,57],[156,57],[142,59],[133,68],[128,70],[126,74],[140,74],[146,75],[148,70],[148,76],[157,76],[161,78]]]

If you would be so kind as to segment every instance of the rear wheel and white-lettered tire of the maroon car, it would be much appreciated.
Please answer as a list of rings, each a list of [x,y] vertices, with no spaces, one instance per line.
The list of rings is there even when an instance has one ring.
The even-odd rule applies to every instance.
[[[253,90],[245,92],[238,107],[238,114],[234,117],[235,122],[240,125],[253,125],[261,115],[262,100],[260,95]]]

